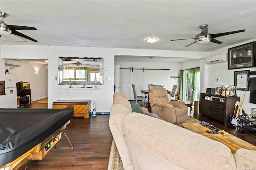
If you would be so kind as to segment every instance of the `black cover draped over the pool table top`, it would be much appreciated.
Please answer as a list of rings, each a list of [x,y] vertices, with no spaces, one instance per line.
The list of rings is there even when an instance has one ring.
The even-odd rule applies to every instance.
[[[73,116],[73,108],[0,109],[0,166],[44,141]]]

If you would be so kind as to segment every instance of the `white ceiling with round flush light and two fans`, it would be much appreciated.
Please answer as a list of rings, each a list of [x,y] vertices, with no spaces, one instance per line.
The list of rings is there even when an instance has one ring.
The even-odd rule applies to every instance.
[[[38,42],[1,44],[111,47],[210,52],[256,38],[256,1],[12,1],[1,0],[0,11],[9,14],[9,25],[30,26],[20,30]],[[194,43],[202,24],[217,34],[245,32],[216,38],[222,44]],[[146,38],[157,37],[148,43]],[[128,56],[117,56],[116,59]],[[145,60],[144,60],[145,61]]]

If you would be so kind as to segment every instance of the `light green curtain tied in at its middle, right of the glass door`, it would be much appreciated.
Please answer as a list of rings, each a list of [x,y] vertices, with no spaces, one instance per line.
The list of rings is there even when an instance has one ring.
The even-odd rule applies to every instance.
[[[190,101],[194,103],[194,99],[196,99],[196,94],[194,93],[194,90],[198,89],[200,84],[200,67],[188,69],[188,79],[190,87],[192,89]]]

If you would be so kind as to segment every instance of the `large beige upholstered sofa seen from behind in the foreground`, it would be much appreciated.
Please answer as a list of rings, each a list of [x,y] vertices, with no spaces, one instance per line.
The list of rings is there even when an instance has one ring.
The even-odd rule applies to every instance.
[[[125,170],[256,168],[256,151],[239,149],[232,154],[220,142],[148,115],[132,113],[130,102],[121,93],[115,93],[113,98],[109,126]],[[143,111],[148,112],[146,108]]]

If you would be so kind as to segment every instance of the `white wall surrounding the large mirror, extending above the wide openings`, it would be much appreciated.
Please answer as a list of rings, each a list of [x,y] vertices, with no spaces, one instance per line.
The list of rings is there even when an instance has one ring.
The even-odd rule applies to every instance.
[[[63,99],[90,99],[96,104],[97,112],[109,112],[114,94],[114,56],[159,56],[159,57],[191,57],[205,58],[208,53],[194,51],[167,51],[148,49],[119,49],[96,47],[44,47],[39,45],[1,45],[1,58],[13,59],[48,59],[48,108],[52,102]],[[104,76],[111,80],[104,80],[104,85],[98,86],[99,90],[62,89],[66,85],[58,85],[52,77],[58,76],[58,56],[62,57],[103,57]],[[2,73],[1,73],[2,74]]]

